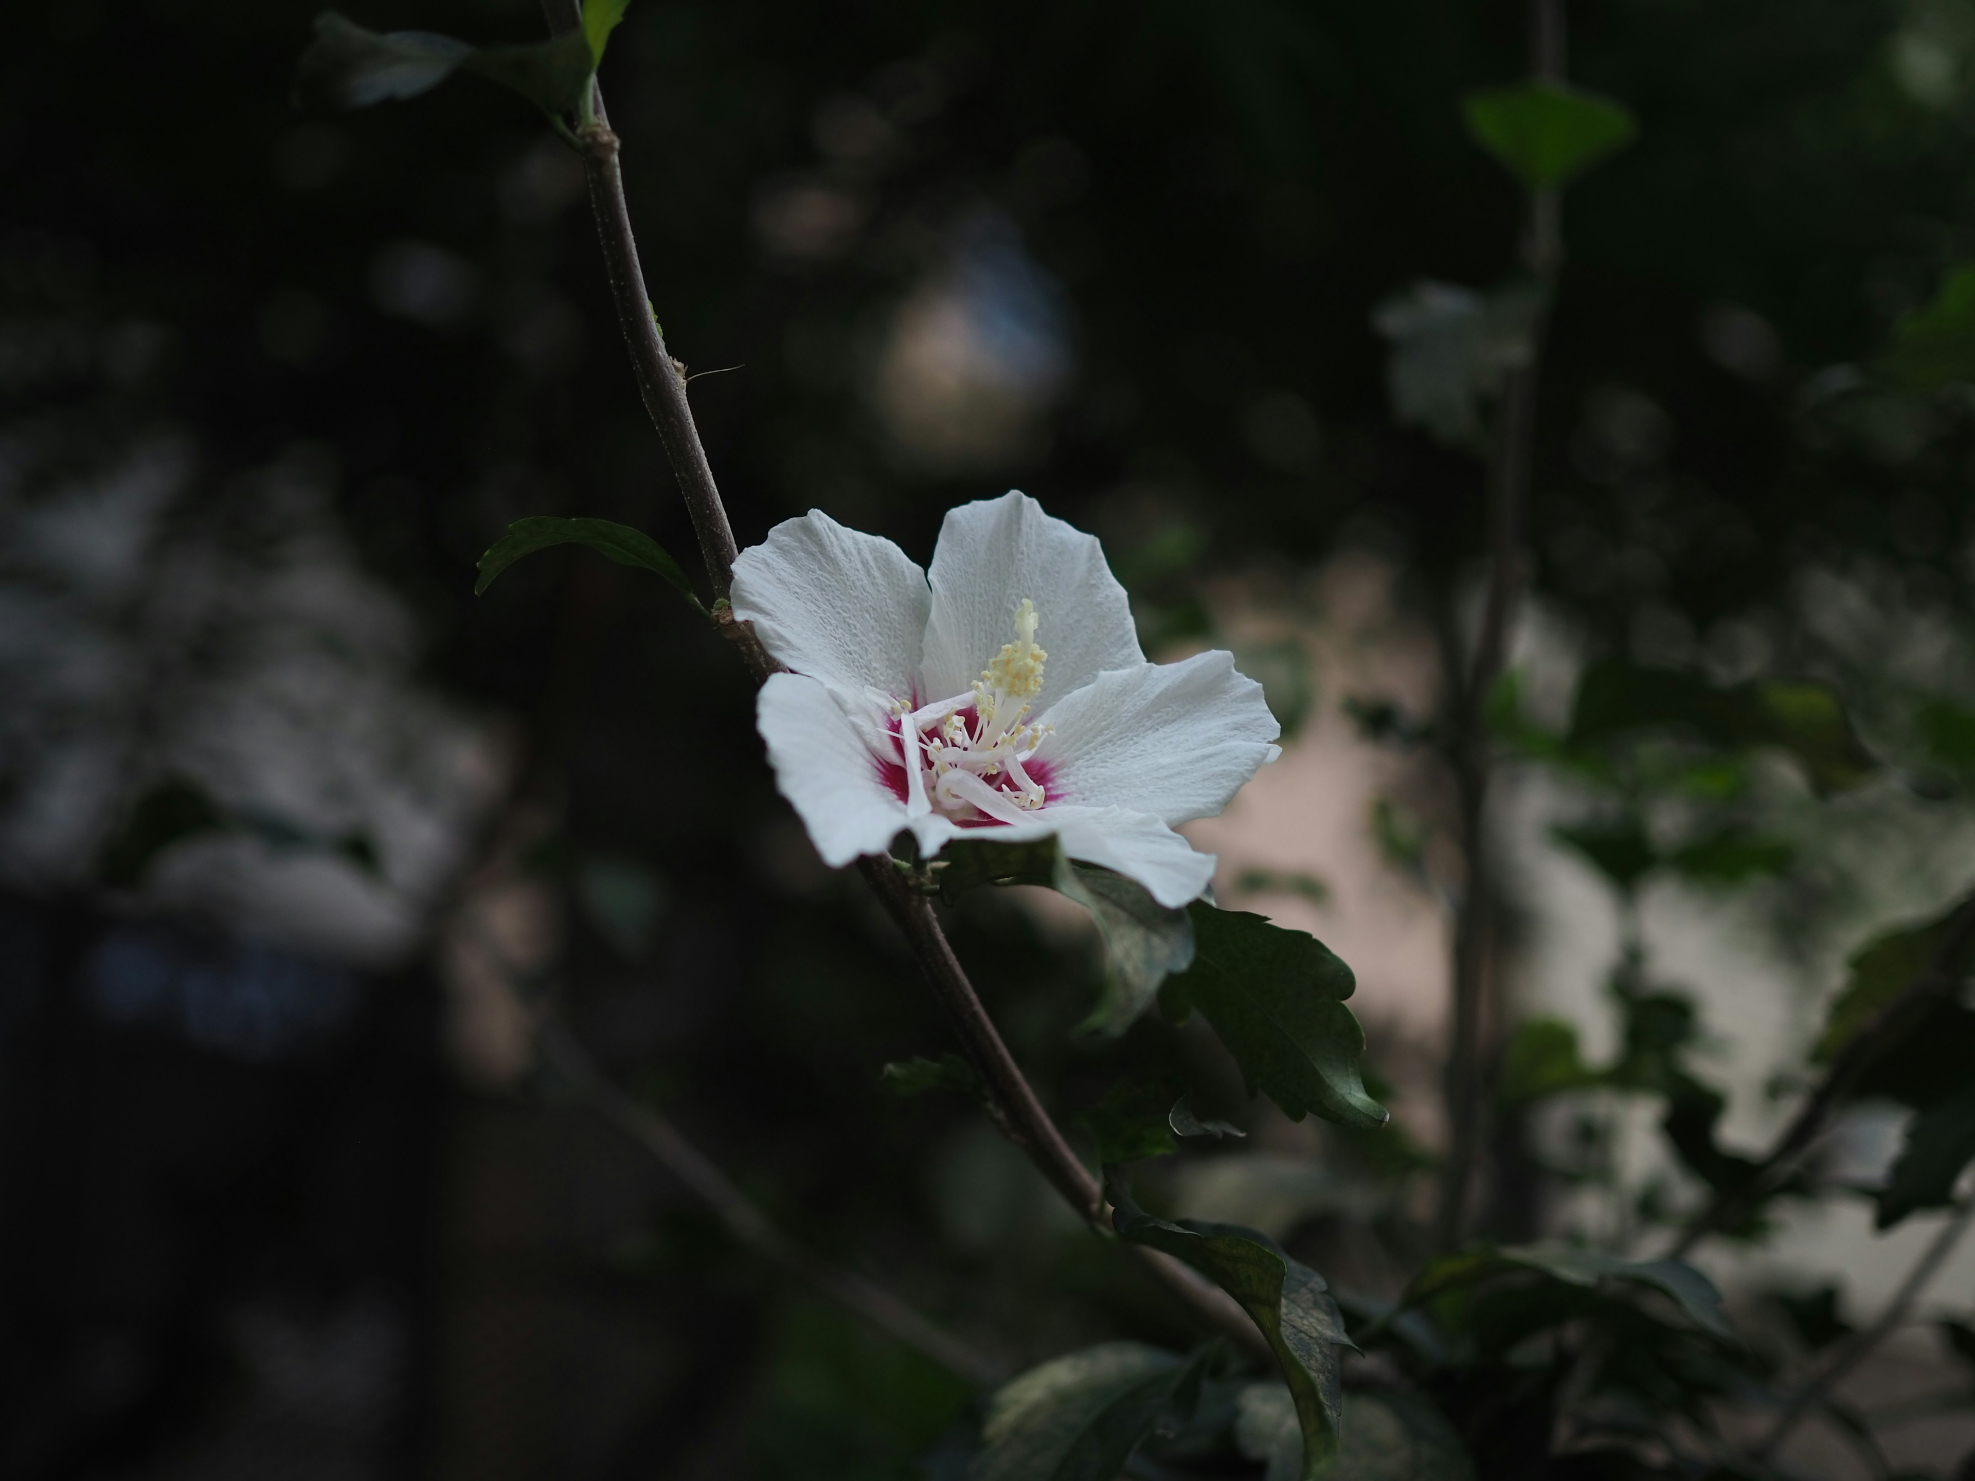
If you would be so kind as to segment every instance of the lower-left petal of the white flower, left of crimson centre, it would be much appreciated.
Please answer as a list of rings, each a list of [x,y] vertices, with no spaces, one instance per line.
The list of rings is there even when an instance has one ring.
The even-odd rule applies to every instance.
[[[774,784],[831,869],[861,853],[885,853],[905,827],[905,804],[885,784],[845,703],[859,701],[796,673],[768,675],[754,701]]]

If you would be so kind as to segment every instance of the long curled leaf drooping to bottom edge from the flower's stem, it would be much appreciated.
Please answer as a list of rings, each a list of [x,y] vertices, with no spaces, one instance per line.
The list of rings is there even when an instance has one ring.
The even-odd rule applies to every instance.
[[[1118,1236],[1163,1250],[1215,1282],[1268,1339],[1296,1404],[1304,1436],[1304,1477],[1325,1473],[1343,1420],[1345,1319],[1323,1278],[1286,1256],[1266,1234],[1234,1224],[1151,1218],[1118,1169],[1106,1169],[1104,1197]]]

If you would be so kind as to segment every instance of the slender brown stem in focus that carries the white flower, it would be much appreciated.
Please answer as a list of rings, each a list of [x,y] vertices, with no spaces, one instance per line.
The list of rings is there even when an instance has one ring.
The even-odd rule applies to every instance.
[[[567,32],[583,24],[579,0],[543,0],[551,32]],[[610,274],[610,296],[616,302],[618,324],[630,348],[632,367],[638,373],[638,389],[644,395],[646,411],[658,427],[666,456],[679,480],[679,494],[685,498],[693,531],[699,537],[699,555],[707,567],[715,600],[725,598],[733,585],[733,565],[739,555],[733,527],[727,521],[727,506],[721,502],[719,486],[713,482],[713,468],[707,450],[699,440],[693,423],[693,409],[685,397],[685,377],[666,350],[666,338],[658,326],[658,316],[644,282],[644,267],[638,261],[638,239],[630,225],[630,205],[624,199],[624,174],[618,168],[618,136],[610,132],[610,118],[604,113],[602,87],[592,83],[589,118],[577,130],[583,146],[585,172],[591,184],[591,207],[596,215],[596,231],[602,239],[604,265]],[[715,606],[715,622],[721,632],[735,640],[749,671],[756,679],[766,679],[780,665],[754,638],[745,622],[735,622],[727,606]],[[1108,1226],[1102,1191],[1090,1171],[1076,1161],[1063,1133],[1043,1110],[1035,1090],[1009,1054],[1007,1045],[995,1031],[988,1009],[982,1007],[974,983],[960,968],[940,922],[932,908],[908,885],[897,879],[883,859],[863,861],[865,879],[871,881],[885,908],[905,932],[912,954],[918,958],[926,981],[932,985],[960,1033],[962,1045],[974,1058],[984,1082],[993,1094],[1005,1126],[1015,1128],[1017,1145],[1043,1171],[1051,1185],[1070,1203],[1072,1208],[1100,1228]],[[1134,1252],[1144,1258],[1153,1274],[1201,1319],[1221,1327],[1244,1347],[1268,1355],[1262,1333],[1248,1319],[1232,1297],[1209,1286],[1187,1266],[1151,1250]]]

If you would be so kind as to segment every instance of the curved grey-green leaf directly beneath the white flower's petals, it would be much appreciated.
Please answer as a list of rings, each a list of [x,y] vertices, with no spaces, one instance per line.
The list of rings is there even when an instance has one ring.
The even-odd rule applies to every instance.
[[[1193,922],[1136,879],[1076,863],[1055,837],[1025,843],[956,841],[940,851],[940,898],[980,885],[1047,885],[1090,912],[1104,938],[1104,991],[1076,1033],[1114,1039],[1146,1011],[1159,983],[1193,962]]]

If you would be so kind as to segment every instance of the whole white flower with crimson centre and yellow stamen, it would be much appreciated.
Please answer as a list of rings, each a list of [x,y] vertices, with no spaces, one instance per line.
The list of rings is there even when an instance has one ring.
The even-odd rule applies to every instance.
[[[792,669],[756,721],[830,865],[901,829],[926,857],[1055,833],[1177,906],[1215,861],[1173,825],[1280,754],[1262,685],[1224,652],[1147,663],[1096,537],[1025,494],[952,509],[930,585],[889,539],[812,509],[741,553],[733,610]]]

